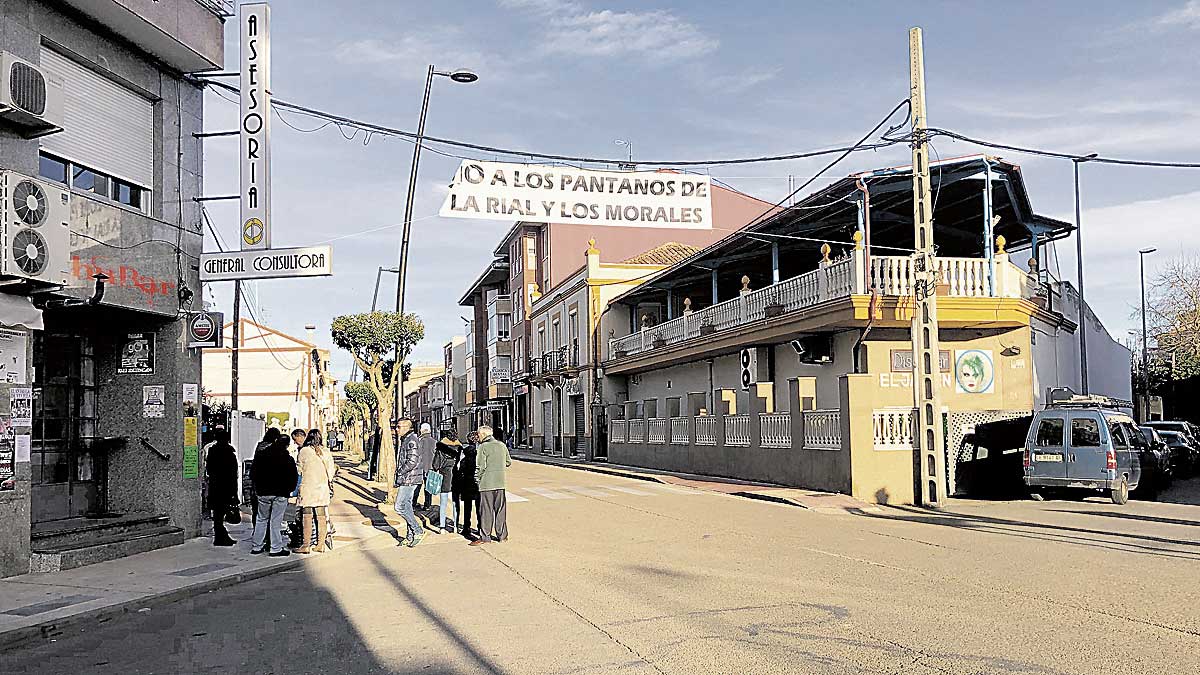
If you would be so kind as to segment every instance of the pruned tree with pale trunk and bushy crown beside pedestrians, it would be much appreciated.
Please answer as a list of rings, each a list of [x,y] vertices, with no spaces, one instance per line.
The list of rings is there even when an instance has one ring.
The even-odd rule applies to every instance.
[[[386,482],[392,496],[391,478],[396,471],[396,449],[391,438],[390,418],[396,398],[396,376],[403,371],[391,366],[394,350],[400,347],[401,363],[413,346],[425,338],[425,324],[413,313],[367,312],[340,316],[330,324],[334,345],[346,350],[362,369],[365,384],[374,394],[374,420],[383,430],[379,443],[377,480]],[[347,390],[349,395],[349,390]]]

